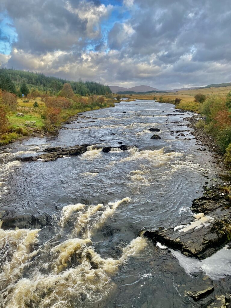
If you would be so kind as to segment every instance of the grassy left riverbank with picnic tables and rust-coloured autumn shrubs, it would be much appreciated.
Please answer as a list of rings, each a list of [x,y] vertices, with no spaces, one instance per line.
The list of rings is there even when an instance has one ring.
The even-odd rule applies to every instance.
[[[114,100],[102,96],[80,97],[70,99],[47,97],[17,99],[14,110],[6,108],[6,127],[0,134],[0,145],[9,144],[23,136],[36,132],[43,135],[59,129],[70,116],[79,112],[114,107]],[[24,116],[17,116],[22,113]],[[26,122],[36,122],[26,125]]]

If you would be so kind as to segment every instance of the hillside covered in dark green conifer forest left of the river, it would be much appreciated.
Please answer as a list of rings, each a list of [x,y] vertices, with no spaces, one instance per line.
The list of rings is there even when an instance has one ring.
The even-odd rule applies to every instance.
[[[81,79],[79,81],[70,81],[29,71],[0,69],[0,89],[20,96],[19,91],[23,81],[26,81],[30,91],[34,89],[52,95],[58,93],[63,88],[64,83],[70,83],[75,94],[104,95],[106,92],[111,93],[108,86],[94,81],[83,82]]]

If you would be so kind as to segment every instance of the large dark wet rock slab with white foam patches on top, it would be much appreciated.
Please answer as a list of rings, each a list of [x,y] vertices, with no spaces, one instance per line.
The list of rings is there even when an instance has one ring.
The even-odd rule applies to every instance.
[[[174,228],[144,229],[144,236],[152,238],[184,255],[205,259],[231,238],[231,202],[227,195],[214,187],[205,196],[193,201],[196,212],[187,224]]]

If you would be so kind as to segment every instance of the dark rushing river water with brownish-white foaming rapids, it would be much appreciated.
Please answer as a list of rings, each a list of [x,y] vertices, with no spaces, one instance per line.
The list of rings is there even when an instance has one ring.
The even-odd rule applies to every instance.
[[[26,229],[22,222],[21,229],[20,223],[0,229],[1,307],[201,307],[185,296],[189,286],[231,273],[228,250],[219,252],[226,264],[217,266],[139,236],[144,227],[191,219],[192,201],[220,173],[183,120],[193,113],[172,113],[171,104],[121,102],[83,113],[57,136],[17,142],[1,154],[3,221],[6,214],[52,217],[46,227]],[[152,140],[149,128],[159,128],[162,139]],[[185,136],[176,138],[179,130]],[[118,142],[131,148],[89,147],[46,163],[15,160],[47,147]]]

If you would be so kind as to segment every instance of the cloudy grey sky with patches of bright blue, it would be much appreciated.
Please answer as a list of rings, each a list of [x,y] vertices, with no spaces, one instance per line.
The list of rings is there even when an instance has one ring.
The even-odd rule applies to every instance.
[[[122,87],[231,82],[231,2],[0,0],[0,62]]]

